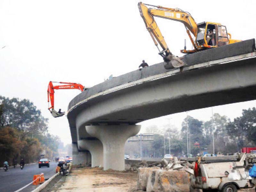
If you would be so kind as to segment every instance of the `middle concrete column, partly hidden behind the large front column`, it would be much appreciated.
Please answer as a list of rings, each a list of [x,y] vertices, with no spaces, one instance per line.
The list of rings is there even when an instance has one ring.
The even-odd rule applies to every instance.
[[[100,140],[78,140],[79,148],[89,150],[92,155],[92,167],[103,166],[103,145]]]

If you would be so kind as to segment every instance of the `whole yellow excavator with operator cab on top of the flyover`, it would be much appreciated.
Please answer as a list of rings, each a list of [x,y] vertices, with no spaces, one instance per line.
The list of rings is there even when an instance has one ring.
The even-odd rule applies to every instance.
[[[147,5],[153,8],[148,8]],[[184,24],[194,49],[186,50],[185,41],[184,49],[180,51],[182,53],[195,53],[198,51],[203,51],[206,49],[241,41],[231,39],[231,34],[227,33],[226,26],[214,22],[201,22],[196,24],[196,21],[193,19],[189,12],[182,11],[178,8],[173,9],[162,6],[143,4],[141,2],[138,4],[138,7],[140,10],[140,16],[142,17],[150,36],[152,37],[157,49],[159,50],[159,55],[161,55],[164,59],[164,66],[167,65],[172,66],[173,68],[179,68],[185,64],[178,57],[174,56],[169,50],[154,17],[179,21]],[[194,36],[194,40],[191,36],[191,33]],[[159,49],[157,42],[162,47],[162,51]]]

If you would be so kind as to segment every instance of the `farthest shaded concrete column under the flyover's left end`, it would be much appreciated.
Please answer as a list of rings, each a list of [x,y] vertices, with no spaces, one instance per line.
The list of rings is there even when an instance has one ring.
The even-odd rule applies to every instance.
[[[78,151],[77,143],[72,143],[72,158],[73,165],[86,164],[90,154],[88,151]]]

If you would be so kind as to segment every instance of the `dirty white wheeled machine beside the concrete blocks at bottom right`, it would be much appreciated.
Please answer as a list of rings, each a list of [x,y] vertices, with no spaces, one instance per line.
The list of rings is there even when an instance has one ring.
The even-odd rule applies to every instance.
[[[248,164],[247,157],[248,154],[242,153],[237,156],[239,161],[232,162],[232,160],[230,160],[230,162],[220,163],[201,162],[198,164],[197,177],[194,175],[190,176],[191,187],[203,189],[203,192],[237,192],[237,190],[241,188],[252,188],[255,186],[256,178],[251,178],[248,173],[248,168],[245,169],[245,162]],[[212,157],[215,161],[218,161],[218,159],[221,161],[223,158],[224,160],[225,158],[231,159],[230,156]]]

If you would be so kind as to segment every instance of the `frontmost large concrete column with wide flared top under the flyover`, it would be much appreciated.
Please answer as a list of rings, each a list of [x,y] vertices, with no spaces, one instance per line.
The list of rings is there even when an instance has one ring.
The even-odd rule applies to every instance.
[[[86,131],[103,144],[104,170],[124,170],[125,141],[140,131],[140,125],[92,125]]]

